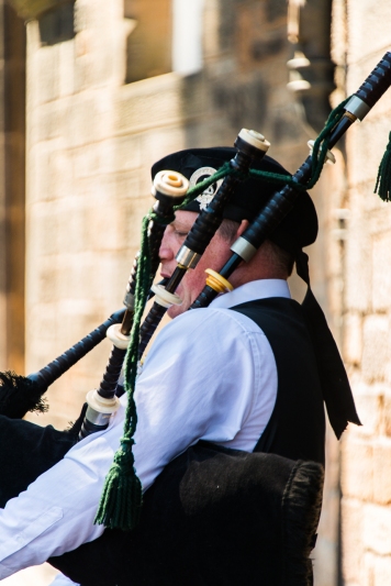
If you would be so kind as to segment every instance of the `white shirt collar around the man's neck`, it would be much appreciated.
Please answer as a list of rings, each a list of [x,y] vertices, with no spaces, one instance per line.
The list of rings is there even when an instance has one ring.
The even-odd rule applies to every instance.
[[[228,309],[246,301],[266,299],[268,297],[286,297],[290,299],[291,294],[288,283],[283,279],[252,280],[231,292],[220,295],[211,302],[210,307]]]

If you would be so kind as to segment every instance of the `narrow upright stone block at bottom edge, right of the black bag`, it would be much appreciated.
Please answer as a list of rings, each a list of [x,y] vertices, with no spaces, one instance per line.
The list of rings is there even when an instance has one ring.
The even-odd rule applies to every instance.
[[[344,584],[361,585],[364,544],[359,500],[342,500],[342,574]]]

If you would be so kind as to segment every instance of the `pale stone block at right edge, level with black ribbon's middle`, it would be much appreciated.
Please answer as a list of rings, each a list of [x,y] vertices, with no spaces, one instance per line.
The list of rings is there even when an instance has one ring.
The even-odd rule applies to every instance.
[[[362,376],[366,382],[380,382],[386,377],[389,360],[389,318],[368,316],[364,320]]]

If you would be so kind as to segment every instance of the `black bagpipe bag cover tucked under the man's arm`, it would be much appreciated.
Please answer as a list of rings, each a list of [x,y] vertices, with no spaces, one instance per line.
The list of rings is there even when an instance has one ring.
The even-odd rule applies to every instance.
[[[145,493],[137,529],[49,559],[82,586],[309,586],[323,466],[199,442]]]

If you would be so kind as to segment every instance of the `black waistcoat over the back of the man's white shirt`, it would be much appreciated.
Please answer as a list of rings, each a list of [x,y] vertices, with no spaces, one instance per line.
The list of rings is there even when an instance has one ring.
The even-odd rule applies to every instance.
[[[293,299],[272,297],[232,309],[259,325],[277,365],[277,401],[254,451],[324,464],[322,388],[301,306]]]

